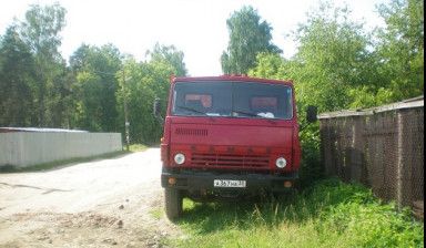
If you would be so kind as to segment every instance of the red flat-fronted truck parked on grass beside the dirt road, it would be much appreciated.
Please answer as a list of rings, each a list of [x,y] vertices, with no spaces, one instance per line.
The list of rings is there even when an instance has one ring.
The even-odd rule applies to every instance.
[[[302,151],[292,81],[172,78],[163,121],[161,185],[170,219],[182,199],[291,192]]]

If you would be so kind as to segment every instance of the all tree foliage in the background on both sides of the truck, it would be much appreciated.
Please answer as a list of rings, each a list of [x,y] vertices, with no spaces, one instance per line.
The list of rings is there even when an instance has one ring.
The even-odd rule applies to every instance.
[[[59,3],[31,6],[26,20],[1,37],[0,125],[123,132],[124,69],[131,140],[155,143],[161,127],[151,113],[152,100],[165,103],[170,75],[187,73],[183,52],[156,43],[148,61],[136,62],[112,44],[82,44],[67,65],[59,53],[65,13]],[[293,33],[300,46],[292,59],[280,56],[272,27],[252,7],[226,20],[224,73],[294,80],[301,173],[310,177],[320,176],[321,166],[317,126],[304,121],[307,105],[327,112],[424,94],[424,1],[392,0],[378,13],[386,25],[366,33],[363,23],[351,21],[348,8],[322,2]],[[312,172],[304,170],[311,166]]]

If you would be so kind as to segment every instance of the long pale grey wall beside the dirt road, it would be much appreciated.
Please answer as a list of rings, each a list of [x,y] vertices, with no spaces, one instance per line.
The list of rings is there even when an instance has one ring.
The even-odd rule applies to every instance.
[[[122,151],[120,133],[0,133],[0,166],[26,167]]]

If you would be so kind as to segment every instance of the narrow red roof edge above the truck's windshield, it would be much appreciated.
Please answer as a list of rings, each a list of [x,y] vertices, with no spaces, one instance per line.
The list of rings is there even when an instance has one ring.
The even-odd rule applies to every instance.
[[[275,83],[275,84],[293,84],[292,80],[272,80],[248,78],[245,75],[220,75],[220,76],[189,76],[189,78],[174,78],[171,76],[172,82],[192,82],[192,81],[240,81],[240,82],[258,82],[258,83]]]

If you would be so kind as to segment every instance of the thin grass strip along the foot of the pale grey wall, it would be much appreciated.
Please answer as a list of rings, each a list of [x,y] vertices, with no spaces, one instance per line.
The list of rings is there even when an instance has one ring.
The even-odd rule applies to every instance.
[[[130,148],[130,152],[120,151],[120,152],[108,153],[108,154],[90,156],[90,157],[77,157],[77,158],[70,158],[64,161],[50,162],[50,163],[44,163],[44,164],[39,164],[39,165],[33,165],[28,167],[16,167],[16,166],[6,165],[0,167],[0,174],[49,170],[49,169],[58,168],[69,164],[79,164],[79,163],[88,163],[88,162],[93,162],[99,159],[106,159],[106,158],[125,155],[129,153],[144,152],[148,149],[145,145],[141,145],[141,144],[132,144],[130,145],[129,148]]]

